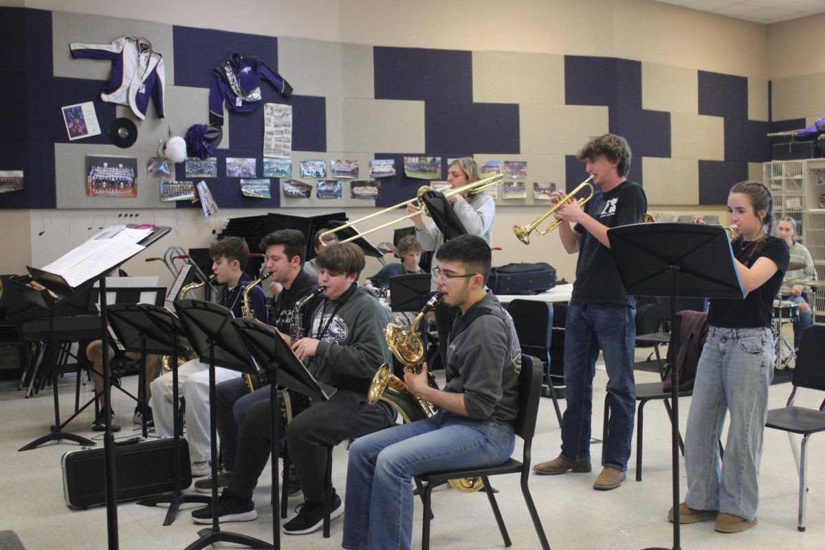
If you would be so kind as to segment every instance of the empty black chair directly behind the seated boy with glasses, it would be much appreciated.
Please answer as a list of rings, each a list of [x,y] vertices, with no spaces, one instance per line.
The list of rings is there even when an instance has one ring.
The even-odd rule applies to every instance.
[[[558,390],[564,388],[564,365],[550,360],[550,345],[553,338],[553,306],[546,302],[515,299],[507,305],[507,313],[513,318],[521,351],[525,355],[538,357],[544,364],[544,383],[548,395],[553,399],[553,407],[559,428],[562,425],[562,411],[559,407]]]

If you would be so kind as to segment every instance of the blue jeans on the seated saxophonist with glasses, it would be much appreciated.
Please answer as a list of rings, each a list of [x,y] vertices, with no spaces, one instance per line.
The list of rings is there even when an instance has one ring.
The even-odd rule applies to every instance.
[[[410,548],[413,475],[497,466],[515,444],[511,425],[447,411],[356,440],[347,467],[343,548]]]

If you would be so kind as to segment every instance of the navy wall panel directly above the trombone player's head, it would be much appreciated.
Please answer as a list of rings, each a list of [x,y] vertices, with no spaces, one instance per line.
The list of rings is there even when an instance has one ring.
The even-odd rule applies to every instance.
[[[430,154],[455,150],[521,153],[516,104],[427,101],[424,128]]]

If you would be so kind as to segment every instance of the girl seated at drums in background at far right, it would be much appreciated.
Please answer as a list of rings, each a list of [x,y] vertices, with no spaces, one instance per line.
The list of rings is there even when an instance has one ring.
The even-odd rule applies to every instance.
[[[808,296],[811,288],[807,286],[816,280],[817,272],[813,269],[813,258],[808,249],[799,242],[794,242],[796,220],[790,216],[780,219],[776,225],[776,236],[785,239],[790,249],[790,263],[782,281],[782,299],[799,304],[799,320],[794,322],[794,348],[799,349],[802,333],[813,324],[811,306]]]

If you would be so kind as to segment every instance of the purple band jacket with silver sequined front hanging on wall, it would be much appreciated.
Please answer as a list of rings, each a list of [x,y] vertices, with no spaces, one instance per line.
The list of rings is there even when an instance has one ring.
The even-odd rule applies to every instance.
[[[229,110],[235,112],[256,110],[262,99],[262,78],[268,80],[282,97],[289,97],[292,93],[290,83],[257,57],[232,54],[229,61],[215,67],[209,92],[210,124],[224,124],[224,102]]]

